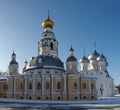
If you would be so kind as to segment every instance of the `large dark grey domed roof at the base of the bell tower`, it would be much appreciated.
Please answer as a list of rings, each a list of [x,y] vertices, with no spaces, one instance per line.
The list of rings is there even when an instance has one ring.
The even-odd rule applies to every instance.
[[[58,57],[52,55],[39,55],[37,57],[33,57],[28,63],[28,66],[24,69],[27,71],[46,68],[60,69],[65,71],[63,62]]]

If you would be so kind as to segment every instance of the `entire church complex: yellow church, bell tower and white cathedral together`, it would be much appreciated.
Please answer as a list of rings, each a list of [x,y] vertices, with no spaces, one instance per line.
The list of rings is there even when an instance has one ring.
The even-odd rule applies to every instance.
[[[53,33],[54,22],[48,14],[42,22],[38,55],[25,61],[22,74],[15,52],[11,55],[6,78],[0,79],[0,97],[26,100],[95,100],[114,95],[114,82],[107,71],[107,59],[96,50],[80,59],[74,49],[64,63],[58,57],[58,41]]]

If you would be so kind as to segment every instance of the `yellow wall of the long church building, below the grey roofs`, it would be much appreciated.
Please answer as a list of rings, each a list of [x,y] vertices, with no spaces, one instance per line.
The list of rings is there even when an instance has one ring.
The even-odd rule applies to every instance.
[[[42,75],[43,76],[43,75]],[[42,94],[42,82],[41,82],[41,76],[36,75],[33,77],[27,77],[27,80],[25,85],[27,85],[27,93],[23,95],[23,90],[20,89],[20,83],[23,82],[23,77],[8,77],[8,86],[12,87],[7,90],[7,92],[12,92],[13,89],[13,79],[16,79],[16,92],[19,92],[17,94],[7,94],[9,98],[17,98],[20,99],[21,96],[24,96],[24,99],[29,100],[30,96],[33,100],[91,100],[91,97],[93,96],[94,99],[96,99],[97,95],[95,94],[96,87],[94,87],[94,90],[92,93],[90,92],[90,81],[96,85],[95,79],[89,79],[89,78],[80,78],[79,74],[68,74],[66,75],[66,94],[64,94],[64,76],[62,74],[56,74],[51,76],[50,74],[44,75],[44,95]],[[33,79],[35,78],[35,79]],[[43,77],[42,77],[43,78]],[[52,78],[53,78],[53,88],[54,92],[52,94]],[[33,85],[33,82],[35,81],[35,85]],[[35,87],[35,93],[33,93],[33,89],[29,90],[29,82],[32,83],[32,86]],[[41,83],[41,89],[37,89],[37,83]],[[50,86],[49,89],[46,89],[46,82],[49,82]],[[61,89],[57,89],[57,82],[61,82]],[[74,83],[77,83],[77,89],[74,88]],[[86,89],[83,89],[83,83],[86,83]],[[33,88],[33,87],[32,87]],[[68,88],[68,89],[67,89]],[[29,94],[28,94],[29,93]],[[68,94],[68,95],[67,95]],[[49,99],[46,99],[46,97],[49,97]],[[60,99],[58,99],[60,97]],[[77,97],[77,99],[75,99]],[[84,99],[86,97],[86,99]],[[38,99],[40,98],[40,99]]]

